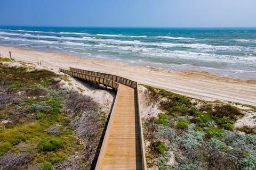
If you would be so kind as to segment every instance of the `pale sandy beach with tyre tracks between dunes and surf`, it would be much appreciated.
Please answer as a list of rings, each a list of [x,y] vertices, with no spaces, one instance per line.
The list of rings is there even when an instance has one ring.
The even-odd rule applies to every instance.
[[[60,53],[39,52],[16,47],[0,46],[2,57],[9,57],[9,51],[15,62],[41,62],[45,69],[59,68],[99,71],[119,75],[141,84],[147,84],[172,92],[204,100],[233,101],[256,106],[256,80],[241,80],[219,77],[207,72],[174,72],[148,66],[121,65],[117,62],[77,57]]]

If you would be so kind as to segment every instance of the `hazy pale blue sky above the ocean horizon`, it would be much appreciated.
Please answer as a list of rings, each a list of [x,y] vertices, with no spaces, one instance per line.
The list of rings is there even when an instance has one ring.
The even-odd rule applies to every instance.
[[[0,25],[256,27],[256,0],[0,0]]]

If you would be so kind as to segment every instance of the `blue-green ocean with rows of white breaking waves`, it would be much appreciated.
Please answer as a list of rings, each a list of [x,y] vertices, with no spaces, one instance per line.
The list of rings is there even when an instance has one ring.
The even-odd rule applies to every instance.
[[[256,80],[256,28],[0,26],[0,45]]]

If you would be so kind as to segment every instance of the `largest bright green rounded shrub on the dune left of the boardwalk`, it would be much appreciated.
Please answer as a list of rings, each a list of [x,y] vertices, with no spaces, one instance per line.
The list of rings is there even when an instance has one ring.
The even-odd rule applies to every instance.
[[[63,140],[60,138],[46,137],[38,143],[38,149],[43,151],[56,151],[63,148]]]

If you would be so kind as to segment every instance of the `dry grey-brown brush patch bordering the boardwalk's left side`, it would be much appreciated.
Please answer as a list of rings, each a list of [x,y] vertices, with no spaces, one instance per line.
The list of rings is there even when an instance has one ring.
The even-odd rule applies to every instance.
[[[82,139],[84,169],[90,169],[106,122],[106,115],[98,110],[99,105],[91,97],[77,92],[66,96],[65,111],[69,112],[70,126]]]

